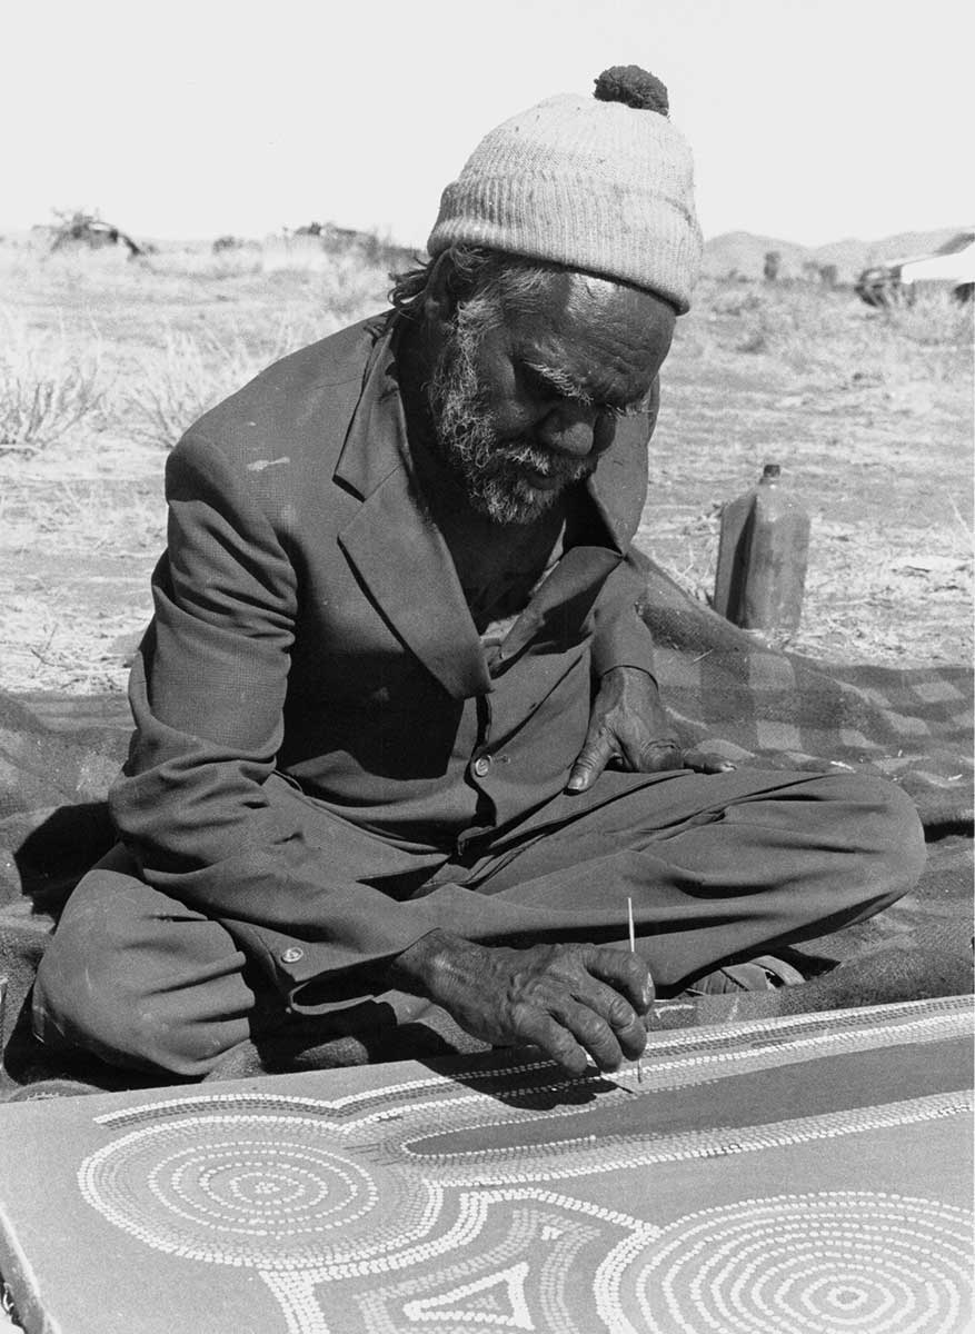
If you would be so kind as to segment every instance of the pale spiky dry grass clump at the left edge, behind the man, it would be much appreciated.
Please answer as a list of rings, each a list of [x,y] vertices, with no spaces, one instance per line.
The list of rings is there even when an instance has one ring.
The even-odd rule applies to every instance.
[[[60,335],[0,316],[0,455],[33,455],[85,422],[103,424],[107,386],[97,339],[84,352]]]

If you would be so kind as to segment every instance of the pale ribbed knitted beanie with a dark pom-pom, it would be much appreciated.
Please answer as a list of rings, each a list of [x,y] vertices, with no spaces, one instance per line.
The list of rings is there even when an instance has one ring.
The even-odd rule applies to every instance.
[[[691,149],[667,89],[615,65],[594,97],[564,93],[492,129],[440,199],[427,241],[550,260],[667,297],[683,313],[702,235]]]

